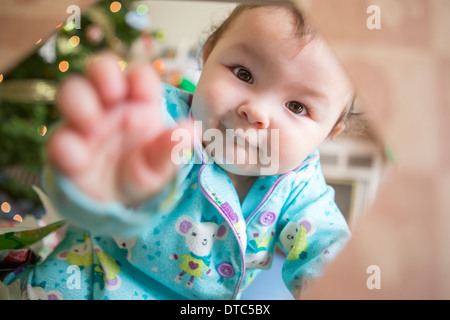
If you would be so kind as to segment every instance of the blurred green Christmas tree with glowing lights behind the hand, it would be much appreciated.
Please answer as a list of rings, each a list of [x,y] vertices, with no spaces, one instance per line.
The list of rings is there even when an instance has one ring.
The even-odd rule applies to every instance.
[[[58,83],[71,73],[82,73],[87,59],[101,50],[116,52],[125,68],[137,40],[149,44],[151,36],[163,37],[160,31],[145,31],[148,22],[145,4],[100,1],[56,26],[50,38],[37,41],[33,54],[0,75],[0,218],[41,210],[31,186],[40,184],[45,141],[59,120]]]

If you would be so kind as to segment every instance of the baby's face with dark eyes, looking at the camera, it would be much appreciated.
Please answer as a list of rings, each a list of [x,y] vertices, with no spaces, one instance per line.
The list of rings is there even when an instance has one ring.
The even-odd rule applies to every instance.
[[[204,136],[203,145],[231,173],[295,169],[329,136],[351,96],[325,42],[315,36],[302,45],[292,32],[293,18],[284,9],[246,10],[207,57],[192,115],[203,132],[222,136],[223,155],[217,140]],[[227,143],[233,133],[240,138]]]

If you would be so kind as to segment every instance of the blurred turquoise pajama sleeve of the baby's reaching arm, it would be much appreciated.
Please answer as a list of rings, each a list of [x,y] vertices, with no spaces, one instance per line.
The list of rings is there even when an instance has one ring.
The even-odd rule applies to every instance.
[[[179,89],[163,85],[161,109],[166,125],[174,126],[189,114],[190,96]],[[57,212],[72,224],[96,234],[131,237],[143,232],[177,201],[177,189],[183,183],[189,164],[183,164],[178,175],[157,196],[134,208],[119,202],[100,202],[79,190],[67,177],[47,166],[43,187]]]

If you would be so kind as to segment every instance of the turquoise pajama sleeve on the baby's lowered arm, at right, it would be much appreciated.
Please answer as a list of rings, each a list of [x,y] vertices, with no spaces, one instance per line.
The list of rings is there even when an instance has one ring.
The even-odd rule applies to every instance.
[[[282,277],[294,296],[322,274],[350,238],[319,161],[297,175],[297,186],[284,206],[278,239],[286,254]]]

